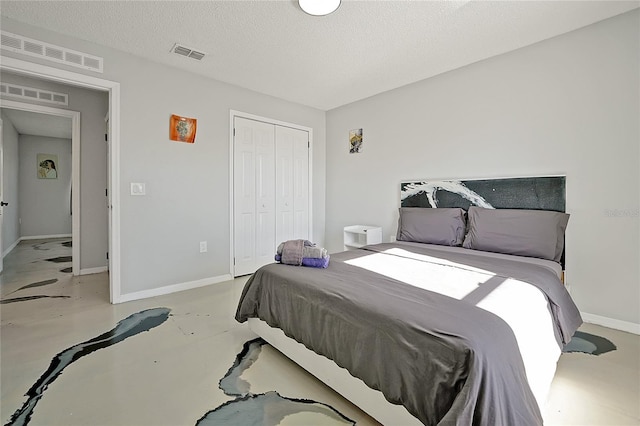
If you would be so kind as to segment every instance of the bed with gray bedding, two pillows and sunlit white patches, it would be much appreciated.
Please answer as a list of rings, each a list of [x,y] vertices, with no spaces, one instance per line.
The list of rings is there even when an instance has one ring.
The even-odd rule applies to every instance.
[[[431,208],[401,204],[397,242],[262,267],[236,319],[383,424],[542,424],[582,322],[560,280],[568,215],[479,207],[460,181],[466,210],[431,205],[443,186],[402,187]]]

